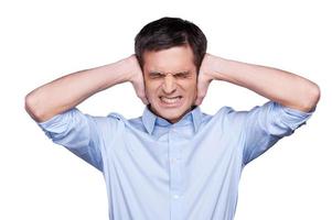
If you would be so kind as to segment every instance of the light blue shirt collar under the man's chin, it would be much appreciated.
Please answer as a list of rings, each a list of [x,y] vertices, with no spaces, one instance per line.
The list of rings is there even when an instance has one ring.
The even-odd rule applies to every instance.
[[[152,134],[156,124],[160,127],[170,127],[170,125],[176,127],[176,125],[185,125],[190,123],[194,127],[194,131],[197,132],[201,125],[201,121],[202,121],[202,112],[200,107],[195,107],[193,110],[184,114],[182,119],[174,124],[170,123],[163,118],[156,116],[149,109],[148,106],[146,107],[142,114],[142,122],[147,131],[149,132],[149,134]]]

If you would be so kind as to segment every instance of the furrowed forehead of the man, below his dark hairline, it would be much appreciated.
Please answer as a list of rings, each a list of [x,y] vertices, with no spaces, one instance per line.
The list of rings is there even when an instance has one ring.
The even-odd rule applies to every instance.
[[[174,46],[143,53],[144,70],[183,72],[195,69],[194,55],[190,46]]]

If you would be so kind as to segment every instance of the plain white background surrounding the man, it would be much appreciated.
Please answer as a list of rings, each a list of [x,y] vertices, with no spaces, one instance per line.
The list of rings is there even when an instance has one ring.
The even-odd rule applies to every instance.
[[[24,111],[24,96],[63,75],[129,56],[137,32],[164,15],[201,26],[208,53],[278,67],[320,86],[308,124],[244,169],[236,220],[332,219],[331,11],[328,0],[1,1],[0,219],[107,220],[103,175],[44,135]],[[202,109],[244,110],[265,101],[218,81]],[[132,118],[143,105],[122,84],[78,108]]]

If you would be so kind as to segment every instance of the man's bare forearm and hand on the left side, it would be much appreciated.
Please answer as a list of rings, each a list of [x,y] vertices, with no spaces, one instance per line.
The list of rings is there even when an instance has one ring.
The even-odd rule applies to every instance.
[[[94,94],[130,81],[147,103],[143,77],[135,55],[105,66],[73,73],[41,86],[25,96],[25,110],[38,122],[62,113]]]

